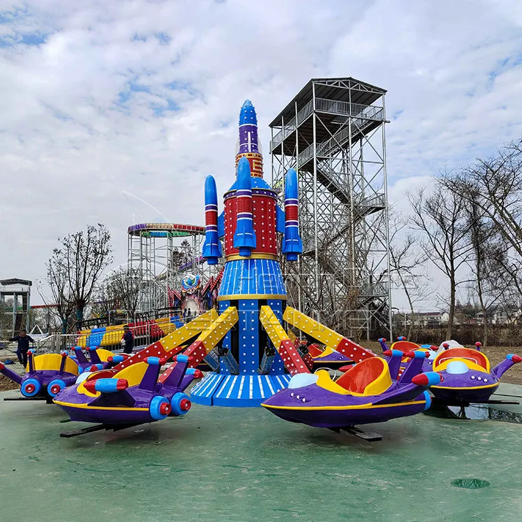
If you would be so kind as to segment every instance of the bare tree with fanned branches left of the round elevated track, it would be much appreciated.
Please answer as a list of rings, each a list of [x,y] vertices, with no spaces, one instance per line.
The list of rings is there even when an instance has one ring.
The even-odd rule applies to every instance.
[[[57,303],[72,303],[78,328],[97,281],[112,261],[110,239],[109,230],[102,224],[88,226],[86,231],[60,238],[60,248],[54,248],[47,262],[47,280],[54,287],[53,297]]]

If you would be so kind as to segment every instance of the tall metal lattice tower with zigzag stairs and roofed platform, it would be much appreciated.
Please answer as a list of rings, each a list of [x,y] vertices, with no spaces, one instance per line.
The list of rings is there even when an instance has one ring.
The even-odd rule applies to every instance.
[[[354,337],[391,335],[386,90],[312,79],[271,122],[272,187],[299,176],[303,255],[283,263],[289,303]]]

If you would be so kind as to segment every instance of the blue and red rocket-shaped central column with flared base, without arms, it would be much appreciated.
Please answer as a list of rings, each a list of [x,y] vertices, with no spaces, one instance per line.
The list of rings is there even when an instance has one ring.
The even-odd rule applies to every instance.
[[[221,254],[221,244],[216,238],[224,240],[219,313],[233,307],[239,320],[218,347],[218,357],[213,361],[216,371],[207,374],[191,390],[193,401],[200,404],[259,406],[290,381],[278,347],[267,335],[266,325],[262,327],[260,310],[268,306],[278,324],[283,322],[287,295],[277,234],[285,235],[283,254],[288,260],[296,260],[302,250],[297,221],[297,179],[295,171],[289,171],[283,212],[277,205],[276,191],[262,175],[258,120],[253,104],[246,100],[239,115],[236,180],[225,193],[225,208],[219,218],[216,184],[212,176],[205,182],[207,235],[203,256],[216,264]]]

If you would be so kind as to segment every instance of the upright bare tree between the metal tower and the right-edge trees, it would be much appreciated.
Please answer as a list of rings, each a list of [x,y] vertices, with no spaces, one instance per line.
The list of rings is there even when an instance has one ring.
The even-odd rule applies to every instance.
[[[413,207],[412,228],[422,234],[420,244],[434,265],[448,277],[450,283],[450,310],[446,337],[451,338],[459,280],[457,273],[466,262],[473,246],[468,240],[468,223],[464,197],[445,189],[438,180],[434,181],[432,193],[424,189],[410,194]]]

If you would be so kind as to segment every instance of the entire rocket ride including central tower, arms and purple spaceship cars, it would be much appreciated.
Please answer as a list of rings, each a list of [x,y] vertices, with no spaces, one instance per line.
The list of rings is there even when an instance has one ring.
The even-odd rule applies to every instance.
[[[355,425],[429,408],[430,387],[435,397],[487,401],[503,372],[522,361],[509,355],[490,370],[478,350],[435,353],[403,339],[390,349],[381,340],[379,357],[288,306],[279,254],[295,262],[302,251],[298,179],[290,168],[280,208],[276,191],[263,179],[257,117],[248,100],[239,116],[236,167],[221,214],[216,182],[212,176],[205,181],[203,257],[209,266],[219,263],[221,238],[224,243],[219,311],[211,308],[190,322],[170,325],[161,339],[128,357],[95,347],[89,349],[90,360],[80,347],[74,360],[67,353],[31,354],[23,377],[0,365],[1,373],[21,385],[24,397],[52,397],[72,420],[98,423],[63,436],[182,416],[196,402],[262,405],[291,422],[345,430],[374,441],[380,436],[364,434]],[[289,326],[324,349],[303,345]],[[328,361],[351,365],[334,380],[327,370],[313,373],[319,359],[326,366]],[[205,375],[197,368],[203,362],[212,369]],[[200,381],[189,397],[184,390],[194,379]]]

